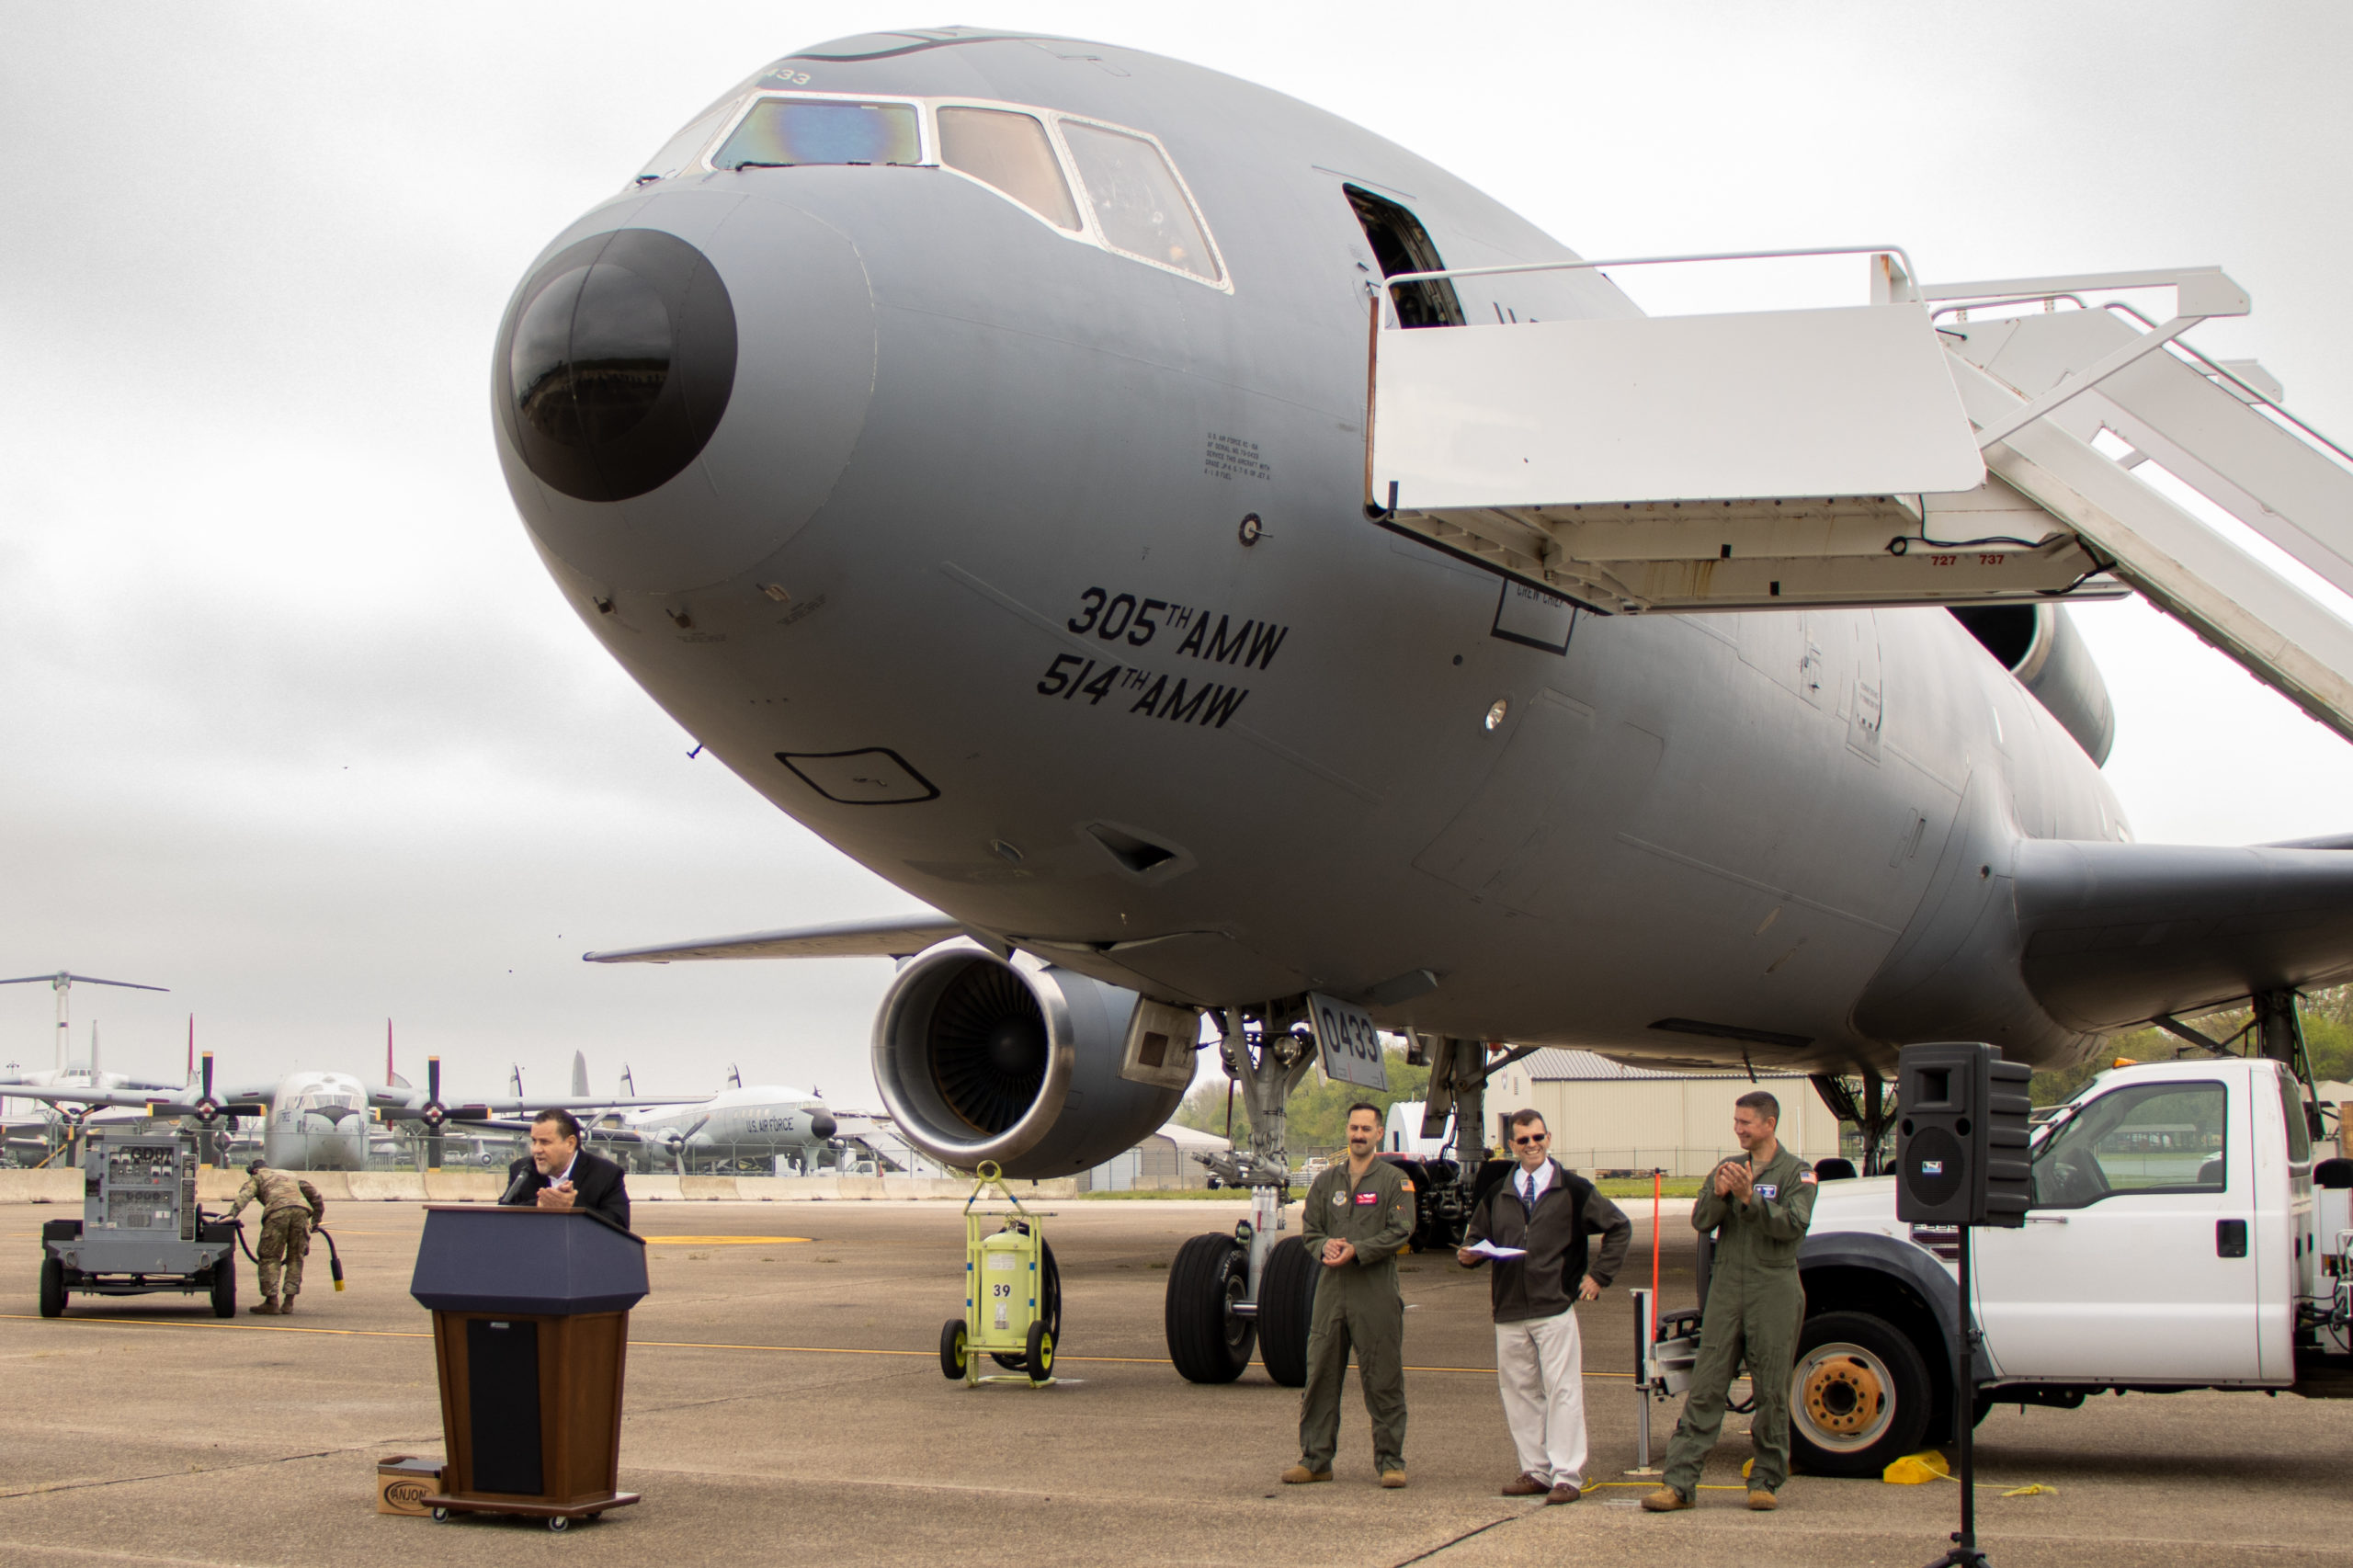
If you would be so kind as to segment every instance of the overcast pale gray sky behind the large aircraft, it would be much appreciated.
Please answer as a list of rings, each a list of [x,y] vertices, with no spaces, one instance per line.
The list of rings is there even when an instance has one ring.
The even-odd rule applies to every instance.
[[[0,975],[106,1064],[440,1052],[459,1090],[871,1102],[882,961],[588,968],[908,909],[685,737],[558,600],[492,457],[532,254],[755,66],[875,5],[0,0]],[[1929,278],[2221,264],[2353,436],[2341,5],[1014,5],[1435,158],[1591,257],[1901,242]],[[1835,278],[1859,297],[1859,264]],[[2337,283],[2332,283],[2337,280]],[[1633,278],[1626,278],[1638,290]],[[1784,278],[1819,290],[1821,278]],[[1657,304],[1673,306],[1671,285]],[[1769,304],[1772,299],[1760,299]],[[1802,304],[1802,299],[1786,299]],[[2092,605],[2146,841],[2353,829],[2353,753]],[[0,1064],[49,1064],[47,986]]]

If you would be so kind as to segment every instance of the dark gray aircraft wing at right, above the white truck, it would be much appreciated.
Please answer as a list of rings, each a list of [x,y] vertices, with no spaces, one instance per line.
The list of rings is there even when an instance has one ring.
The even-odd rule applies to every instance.
[[[2353,852],[2304,845],[2021,843],[2026,986],[2106,1034],[2353,979]]]

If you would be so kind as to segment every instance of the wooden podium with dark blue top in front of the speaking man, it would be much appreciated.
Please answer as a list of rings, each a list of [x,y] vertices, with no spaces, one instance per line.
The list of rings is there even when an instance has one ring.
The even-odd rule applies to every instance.
[[[645,1241],[586,1210],[428,1203],[409,1295],[433,1311],[447,1469],[435,1519],[551,1530],[638,1502],[621,1471],[628,1309]]]

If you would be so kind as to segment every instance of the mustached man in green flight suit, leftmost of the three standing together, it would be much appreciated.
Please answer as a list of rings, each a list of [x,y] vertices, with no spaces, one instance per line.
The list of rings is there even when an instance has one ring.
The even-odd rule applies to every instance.
[[[1405,1486],[1405,1297],[1398,1250],[1414,1234],[1414,1184],[1381,1147],[1381,1111],[1348,1107],[1348,1163],[1308,1187],[1299,1236],[1322,1262],[1308,1321],[1308,1387],[1299,1394],[1299,1464],[1285,1486],[1332,1479],[1339,1448],[1339,1389],[1355,1349],[1355,1377],[1372,1417],[1372,1467],[1381,1486]]]

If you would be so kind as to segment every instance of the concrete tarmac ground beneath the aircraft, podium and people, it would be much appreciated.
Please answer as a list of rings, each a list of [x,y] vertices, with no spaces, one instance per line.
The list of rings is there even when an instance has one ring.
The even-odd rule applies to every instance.
[[[35,1311],[47,1205],[0,1208],[0,1563],[1889,1563],[1946,1547],[1958,1486],[1798,1476],[1741,1507],[1727,1431],[1699,1509],[1647,1516],[1635,1460],[1633,1311],[1584,1309],[1600,1483],[1574,1507],[1499,1497],[1515,1471],[1494,1391],[1487,1283],[1407,1257],[1412,1486],[1374,1486],[1351,1387],[1329,1486],[1285,1488],[1299,1396],[1257,1366],[1195,1387],[1162,1349],[1179,1241],[1238,1203],[1047,1205],[1064,1274],[1064,1387],[967,1389],[939,1373],[962,1307],[953,1203],[640,1205],[654,1293],[631,1318],[621,1486],[645,1502],[551,1535],[499,1519],[381,1516],[374,1462],[440,1457],[428,1316],[407,1295],[421,1210],[329,1210],[292,1318],[212,1318],[198,1297],[75,1297]],[[1649,1274],[1647,1205],[1628,1278]],[[1668,1307],[1692,1295],[1671,1205]],[[252,1269],[240,1290],[252,1302]],[[1673,1406],[1657,1406],[1664,1453]],[[1732,1420],[1739,1427],[1741,1417]],[[2344,1563],[2353,1403],[2261,1394],[1995,1410],[1979,1429],[1981,1542],[2042,1563]],[[2057,1488],[2002,1497],[2026,1483]],[[520,1554],[520,1556],[518,1556]]]

